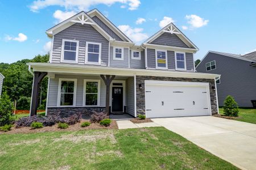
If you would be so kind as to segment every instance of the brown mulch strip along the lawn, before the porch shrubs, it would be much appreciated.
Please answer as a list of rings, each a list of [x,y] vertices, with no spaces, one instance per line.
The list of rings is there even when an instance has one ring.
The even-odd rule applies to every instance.
[[[75,125],[69,125],[67,129],[60,129],[57,128],[57,124],[53,126],[45,126],[44,128],[40,129],[31,129],[31,127],[22,127],[22,128],[11,128],[10,131],[4,132],[0,131],[0,134],[17,134],[17,133],[38,133],[38,132],[47,132],[47,131],[76,131],[76,130],[88,130],[88,129],[118,129],[117,122],[115,120],[112,120],[110,126],[105,127],[100,125],[99,123],[92,123],[90,126],[87,126],[85,128],[82,128],[80,125],[82,122],[89,121],[82,119],[80,123],[77,123]]]

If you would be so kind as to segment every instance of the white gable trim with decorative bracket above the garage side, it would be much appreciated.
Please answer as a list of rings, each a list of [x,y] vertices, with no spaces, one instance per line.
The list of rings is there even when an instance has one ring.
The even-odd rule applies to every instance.
[[[179,37],[180,40],[182,40],[187,46],[189,46],[189,48],[193,48],[195,50],[199,50],[199,48],[197,48],[197,46],[195,44],[193,44],[193,42],[191,40],[188,39],[188,37],[186,37],[175,25],[174,23],[170,23],[168,25],[166,25],[166,27],[160,29],[160,31],[156,32],[154,35],[152,35],[151,37],[149,37],[146,41],[143,42],[143,44],[147,44],[150,43],[152,41],[154,41],[155,39],[157,39],[160,35],[162,35],[164,32],[168,32],[168,33],[175,33],[175,35],[177,35],[177,37]]]

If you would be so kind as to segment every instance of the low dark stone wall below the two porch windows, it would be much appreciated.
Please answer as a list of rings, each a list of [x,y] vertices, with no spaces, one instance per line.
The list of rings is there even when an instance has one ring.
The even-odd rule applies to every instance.
[[[60,117],[69,117],[72,114],[81,113],[82,116],[90,116],[93,112],[105,112],[105,107],[48,107],[47,115],[60,114]]]

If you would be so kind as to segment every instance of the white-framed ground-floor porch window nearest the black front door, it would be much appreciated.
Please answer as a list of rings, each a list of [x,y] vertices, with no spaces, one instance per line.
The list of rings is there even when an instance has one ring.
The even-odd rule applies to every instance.
[[[100,105],[100,80],[84,80],[84,105]]]

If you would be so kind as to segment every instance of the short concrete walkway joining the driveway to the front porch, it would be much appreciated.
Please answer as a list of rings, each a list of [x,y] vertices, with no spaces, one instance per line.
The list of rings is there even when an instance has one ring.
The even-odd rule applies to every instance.
[[[117,121],[117,126],[118,126],[118,129],[130,129],[130,128],[156,127],[160,125],[156,124],[155,122],[134,124],[129,120],[119,120]]]

